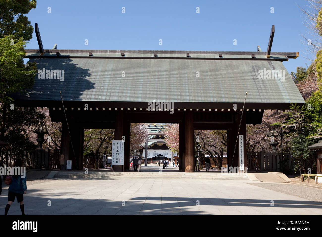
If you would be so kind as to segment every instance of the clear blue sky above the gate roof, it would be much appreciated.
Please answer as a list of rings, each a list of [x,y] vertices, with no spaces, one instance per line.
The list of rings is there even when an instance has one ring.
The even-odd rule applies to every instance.
[[[38,23],[45,49],[57,43],[58,49],[256,51],[260,45],[266,51],[275,25],[272,51],[300,53],[283,62],[290,73],[311,64],[308,45],[300,42],[306,27],[296,4],[307,1],[50,0],[37,1],[27,16]],[[27,48],[38,48],[35,34]]]

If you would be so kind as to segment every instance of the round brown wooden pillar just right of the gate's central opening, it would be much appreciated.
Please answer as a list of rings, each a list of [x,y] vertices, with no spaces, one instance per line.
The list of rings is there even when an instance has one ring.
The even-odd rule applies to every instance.
[[[194,172],[194,124],[193,112],[185,112],[185,172]]]

